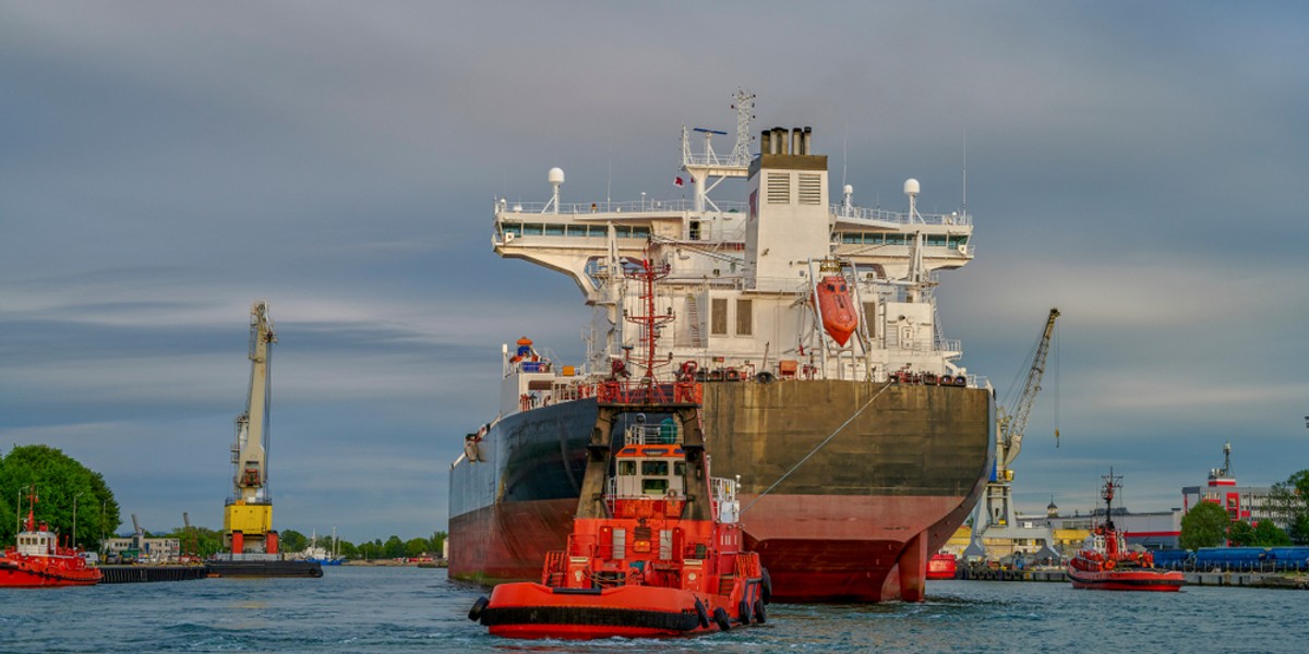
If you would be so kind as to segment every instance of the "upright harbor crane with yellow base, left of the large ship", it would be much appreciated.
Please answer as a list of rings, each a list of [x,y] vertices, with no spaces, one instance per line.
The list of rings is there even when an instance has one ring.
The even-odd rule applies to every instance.
[[[272,498],[268,496],[268,383],[270,345],[278,341],[268,318],[268,302],[250,307],[250,392],[246,409],[237,416],[237,439],[232,446],[233,496],[223,511],[224,549],[240,553],[278,553],[272,531]]]

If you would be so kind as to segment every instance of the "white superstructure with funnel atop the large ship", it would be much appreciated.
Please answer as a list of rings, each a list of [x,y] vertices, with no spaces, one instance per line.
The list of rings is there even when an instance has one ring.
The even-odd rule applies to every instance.
[[[658,340],[672,362],[692,360],[703,374],[725,378],[766,373],[886,381],[903,374],[928,383],[945,377],[975,385],[956,365],[958,341],[941,335],[932,297],[936,271],[958,268],[974,256],[971,216],[919,213],[920,184],[914,179],[905,184],[905,212],[855,207],[848,186],[833,204],[827,157],[812,153],[812,129],[763,131],[762,152],[744,161],[749,132],[740,124],[747,126],[753,98],[738,95],[736,106],[733,156],[712,149],[712,136],[724,132],[696,129],[704,146],[692,152],[683,128],[682,170],[695,191],[690,200],[565,203],[559,169],[548,175],[550,201],[496,200],[495,251],[569,275],[596,309],[588,362],[576,381],[586,371],[607,374],[614,357],[640,351],[644,336],[623,317],[643,309],[620,268],[652,256],[670,268],[656,306],[677,317],[666,327],[672,334]],[[745,179],[744,201],[709,196],[733,178],[737,184]],[[856,337],[844,347],[823,332],[810,301],[822,264],[829,271],[839,267],[861,309]],[[516,366],[505,370],[507,382],[517,377]],[[555,377],[542,373],[531,377]],[[546,386],[542,382],[537,388]],[[526,383],[512,379],[503,398],[521,398]],[[504,404],[511,403],[501,409],[512,412]]]

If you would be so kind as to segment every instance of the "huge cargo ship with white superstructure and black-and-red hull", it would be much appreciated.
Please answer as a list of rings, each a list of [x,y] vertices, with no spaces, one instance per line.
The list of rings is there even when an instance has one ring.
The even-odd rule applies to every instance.
[[[922,600],[927,561],[977,504],[995,455],[995,402],[942,336],[937,271],[973,259],[973,220],[829,201],[827,157],[810,128],[761,132],[738,93],[724,132],[682,129],[690,200],[495,203],[495,251],[571,276],[593,307],[586,358],[562,365],[529,339],[503,348],[499,413],[465,437],[450,468],[450,576],[539,576],[577,508],[596,385],[694,370],[707,453],[740,477],[746,545],[789,602]],[[745,201],[711,198],[741,184]],[[643,259],[668,276],[649,294],[623,275]],[[666,317],[654,357],[649,327]],[[530,324],[524,324],[526,331]]]

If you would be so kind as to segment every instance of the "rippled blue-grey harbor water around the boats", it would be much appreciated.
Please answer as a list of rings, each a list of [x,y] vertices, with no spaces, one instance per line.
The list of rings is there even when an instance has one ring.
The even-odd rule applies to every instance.
[[[695,638],[511,641],[467,620],[487,591],[444,569],[342,566],[321,579],[0,589],[0,651],[1249,651],[1300,653],[1309,593],[944,581],[920,604],[772,604]]]

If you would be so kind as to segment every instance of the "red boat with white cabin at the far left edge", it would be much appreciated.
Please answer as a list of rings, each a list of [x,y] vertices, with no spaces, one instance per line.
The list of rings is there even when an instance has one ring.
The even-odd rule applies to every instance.
[[[86,565],[81,551],[59,544],[50,527],[35,521],[37,493],[27,494],[27,521],[17,543],[0,559],[0,587],[94,586],[102,573]]]

